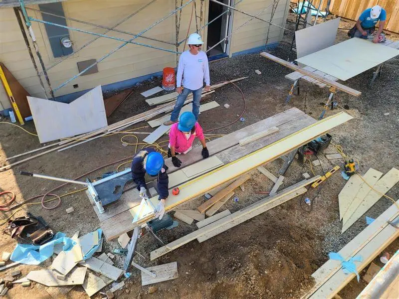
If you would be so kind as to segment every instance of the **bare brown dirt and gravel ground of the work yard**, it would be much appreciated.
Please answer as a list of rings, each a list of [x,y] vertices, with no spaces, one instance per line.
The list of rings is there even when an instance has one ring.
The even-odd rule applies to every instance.
[[[292,21],[293,17],[289,16],[289,20]],[[348,22],[341,23],[342,28],[348,26]],[[293,28],[293,23],[288,21],[287,26]],[[346,38],[346,31],[339,29],[337,42]],[[277,48],[271,50],[271,53],[286,59],[289,55],[291,39],[291,33],[286,33],[284,40]],[[291,60],[292,56],[291,54]],[[257,75],[254,72],[255,69],[259,69],[262,74]],[[235,122],[231,126],[211,133],[234,132],[290,107],[297,107],[317,119],[323,109],[322,104],[327,100],[328,90],[301,82],[300,94],[294,96],[286,105],[284,100],[290,88],[290,82],[284,76],[290,72],[289,69],[266,60],[257,53],[211,62],[212,84],[249,76],[248,79],[237,83],[245,95],[247,106],[244,114],[245,122]],[[355,98],[345,93],[338,93],[337,100],[340,107],[333,112],[328,111],[327,115],[342,111],[342,107],[345,106],[347,108],[345,111],[354,119],[331,130],[333,143],[342,145],[348,155],[360,161],[360,173],[365,173],[370,167],[386,173],[392,167],[399,166],[399,58],[385,63],[382,77],[372,88],[369,88],[368,83],[372,75],[373,70],[369,70],[348,80],[345,84],[362,91],[362,96]],[[144,82],[135,87],[133,95],[116,110],[108,123],[111,124],[148,110],[149,107],[140,93],[159,84],[160,78],[154,78],[151,82]],[[232,122],[244,109],[241,94],[232,86],[219,88],[210,97],[204,99],[204,101],[212,100],[217,101],[220,107],[200,115],[200,123],[205,130]],[[225,109],[223,107],[225,103],[228,103],[230,108]],[[385,115],[386,113],[389,115]],[[142,126],[146,126],[146,123],[137,124],[133,128]],[[40,146],[37,138],[18,128],[3,124],[0,128],[1,165],[5,163],[7,156]],[[26,124],[24,128],[34,132],[32,123]],[[150,129],[137,131],[150,132]],[[137,134],[137,136],[142,140],[146,135]],[[74,178],[100,165],[131,156],[134,147],[122,146],[120,138],[120,135],[114,135],[97,139],[73,149],[43,155],[13,167],[11,170],[3,171],[0,173],[0,191],[14,192],[16,202],[21,202],[59,185],[54,181],[21,176],[18,174],[21,170]],[[133,143],[134,139],[131,140]],[[166,140],[166,137],[162,140]],[[325,152],[336,152],[336,150],[330,146]],[[319,155],[319,158],[323,169],[315,167],[316,174],[322,174],[323,171],[331,169],[336,164],[342,165],[342,161],[339,160],[335,160],[334,163],[329,162],[324,155]],[[282,163],[283,161],[279,159],[264,166],[277,174]],[[95,171],[88,177],[94,178],[103,172],[115,170],[118,164]],[[281,188],[301,180],[303,172],[311,173],[309,165],[293,162],[285,174]],[[236,190],[238,201],[229,200],[226,203],[226,208],[231,212],[265,196],[257,192],[271,189],[271,181],[263,174],[258,171],[252,171],[251,174],[252,178],[244,184],[244,191]],[[312,209],[304,206],[304,199],[299,196],[206,242],[190,242],[156,261],[150,262],[149,254],[159,245],[150,235],[142,236],[139,239],[137,251],[144,258],[136,256],[135,262],[149,267],[177,261],[179,278],[157,284],[157,291],[154,294],[148,294],[149,288],[141,287],[139,272],[131,269],[130,279],[123,277],[119,280],[125,281],[126,285],[116,292],[117,298],[299,298],[312,287],[313,281],[310,276],[327,261],[327,254],[330,251],[339,251],[366,227],[365,219],[361,217],[341,235],[338,193],[345,182],[337,173],[318,189],[310,190],[306,196],[313,199]],[[77,185],[67,185],[56,193],[61,195],[78,189]],[[388,192],[388,195],[399,198],[398,186]],[[195,208],[203,200],[200,198],[191,201],[183,208]],[[64,232],[68,236],[72,236],[77,230],[80,230],[80,235],[83,235],[99,226],[98,218],[84,192],[63,197],[60,206],[52,210],[43,209],[40,198],[32,200],[31,203],[14,216],[21,216],[25,211],[36,216],[43,216],[54,231]],[[367,212],[367,215],[376,218],[391,204],[392,202],[388,199],[381,199]],[[73,207],[75,211],[66,214],[65,209],[68,207]],[[12,212],[3,211],[0,222],[4,223],[11,215]],[[5,228],[4,225],[1,226],[1,229],[3,228]],[[159,237],[164,242],[171,242],[195,228],[195,224],[188,225],[180,222],[179,226],[172,230],[161,231]],[[8,235],[0,235],[0,252],[12,252],[14,247],[14,240],[11,240]],[[111,252],[115,248],[119,248],[119,245],[113,240],[104,243],[103,251]],[[396,240],[387,248],[387,251],[393,254],[398,248],[399,241]],[[40,266],[22,265],[18,269],[26,275],[31,270],[47,268],[51,262],[52,258]],[[122,267],[123,257],[116,256],[114,262],[116,266]],[[377,259],[376,263],[379,263]],[[0,273],[0,277],[5,274],[6,272]],[[361,277],[363,274],[364,271]],[[364,281],[357,283],[354,280],[340,292],[340,295],[345,299],[356,298],[365,286]],[[50,298],[44,289],[38,284],[32,284],[30,289],[14,286],[8,291],[7,296],[8,298],[26,296],[30,299]],[[66,295],[66,298],[80,299],[87,298],[87,295],[81,287],[76,286]],[[92,298],[99,299],[101,296],[97,294]]]

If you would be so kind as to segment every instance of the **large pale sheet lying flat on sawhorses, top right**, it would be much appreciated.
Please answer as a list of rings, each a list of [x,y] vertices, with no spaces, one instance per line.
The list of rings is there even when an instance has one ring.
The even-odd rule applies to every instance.
[[[397,55],[399,50],[389,46],[351,38],[296,61],[345,81]]]

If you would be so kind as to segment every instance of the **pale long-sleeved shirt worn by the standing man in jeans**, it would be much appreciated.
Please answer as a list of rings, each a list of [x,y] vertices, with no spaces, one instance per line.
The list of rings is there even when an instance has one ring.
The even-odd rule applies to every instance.
[[[183,84],[182,84],[183,79]],[[208,58],[205,52],[200,51],[197,55],[184,51],[179,59],[177,87],[182,85],[191,90],[197,90],[203,86],[210,85]]]

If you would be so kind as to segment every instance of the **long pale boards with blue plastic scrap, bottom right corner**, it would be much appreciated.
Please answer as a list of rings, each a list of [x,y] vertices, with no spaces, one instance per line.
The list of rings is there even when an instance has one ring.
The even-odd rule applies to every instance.
[[[361,256],[362,262],[354,262],[358,272],[362,271],[380,252],[399,237],[399,230],[388,223],[388,221],[399,220],[398,205],[399,200],[338,252],[345,261],[356,255]],[[345,274],[341,262],[330,259],[312,274],[316,284],[304,298],[333,298],[355,276],[354,273]]]

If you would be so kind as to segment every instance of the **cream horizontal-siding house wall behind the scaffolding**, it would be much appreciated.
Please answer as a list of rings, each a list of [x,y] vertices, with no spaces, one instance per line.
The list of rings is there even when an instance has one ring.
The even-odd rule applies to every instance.
[[[120,21],[148,2],[149,0],[67,0],[62,2],[62,6],[65,16],[67,17],[112,27],[116,22]],[[183,3],[187,3],[187,0],[183,0]],[[247,11],[248,13],[256,14],[259,9],[264,9],[271,3],[272,0],[243,0],[237,5],[237,7]],[[284,26],[286,19],[285,13],[288,7],[287,3],[287,0],[280,0],[273,22]],[[199,1],[197,1],[196,6],[197,14],[200,15]],[[27,7],[39,9],[38,5],[29,5]],[[207,20],[208,7],[209,0],[205,0],[202,11],[203,23],[206,23]],[[131,19],[119,25],[117,28],[128,32],[139,33],[174,9],[175,0],[158,0],[137,13]],[[185,38],[188,32],[192,33],[196,30],[195,13],[193,14],[193,19],[189,29],[192,9],[193,4],[190,3],[183,8],[181,14],[178,13],[178,17],[181,18],[179,40]],[[271,8],[269,8],[267,12],[262,14],[260,17],[269,19],[270,11]],[[40,12],[27,10],[27,13],[34,18],[42,19]],[[235,11],[233,13],[233,30],[248,18],[248,16]],[[198,19],[197,21],[199,24],[200,20]],[[66,23],[67,26],[96,33],[105,33],[107,31],[106,29],[70,20],[66,20]],[[230,55],[231,53],[264,45],[266,41],[267,27],[267,23],[255,19],[245,27],[241,28],[237,33],[234,33],[231,37]],[[44,24],[32,22],[32,28],[46,67],[49,67],[54,62],[62,59],[53,57]],[[206,40],[206,30],[207,27],[201,31],[204,40]],[[268,43],[278,42],[281,32],[282,29],[272,26],[269,32]],[[112,31],[106,34],[124,39],[132,38],[131,35]],[[82,45],[96,37],[94,35],[73,30],[69,30],[69,35],[73,42],[72,46],[74,50],[80,48]],[[175,15],[170,16],[160,24],[156,25],[144,35],[175,43]],[[170,50],[176,50],[174,45],[152,41],[141,37],[135,39],[135,41]],[[59,86],[64,81],[79,73],[77,62],[88,59],[100,59],[120,44],[122,44],[121,41],[101,37],[86,48],[73,54],[73,56],[48,71],[52,88]],[[179,51],[183,51],[183,46],[184,43],[179,47]],[[206,45],[204,48],[205,47]],[[185,49],[187,49],[187,45]],[[14,11],[11,7],[0,7],[0,61],[4,63],[19,83],[22,84],[22,86],[32,96],[41,98],[45,97],[33,68],[33,64],[30,60]],[[36,62],[39,65],[39,62]],[[55,92],[55,96],[58,97],[84,91],[99,84],[104,86],[157,73],[167,66],[176,67],[176,54],[140,45],[128,44],[113,53],[104,61],[100,62],[98,64],[98,73],[78,77]],[[45,82],[44,77],[43,81]],[[78,84],[78,87],[74,88],[74,84]],[[9,108],[8,99],[2,88],[0,88],[0,104],[2,106],[0,109]]]

